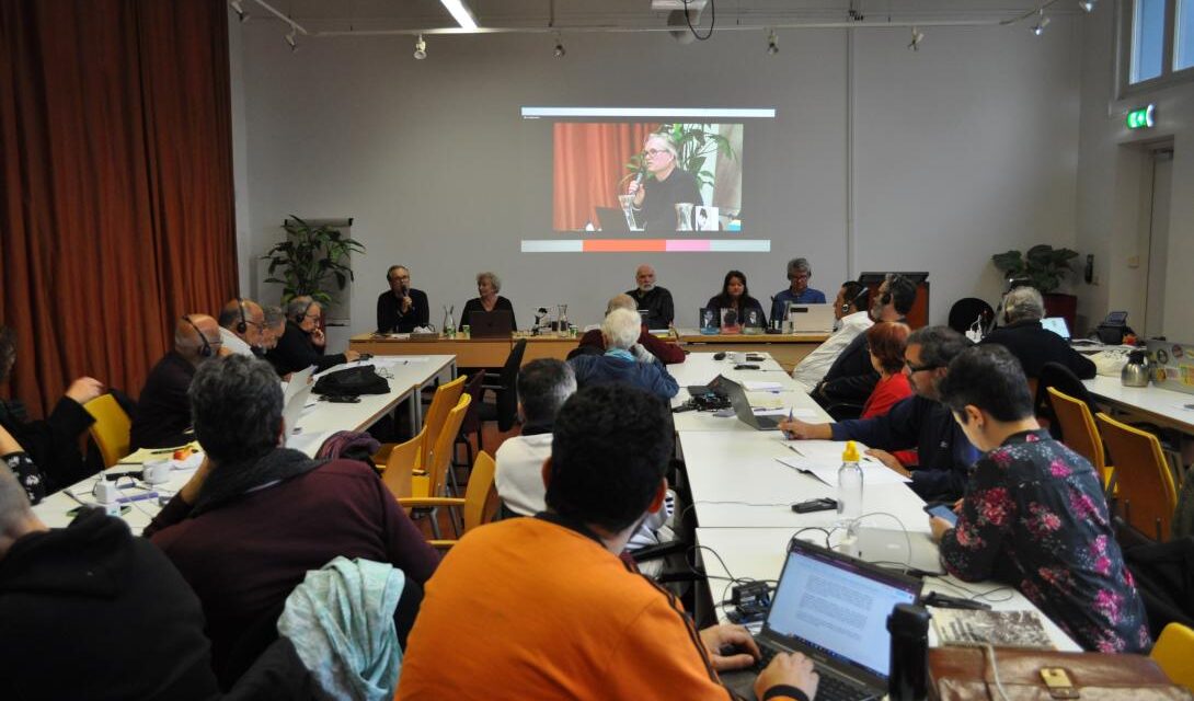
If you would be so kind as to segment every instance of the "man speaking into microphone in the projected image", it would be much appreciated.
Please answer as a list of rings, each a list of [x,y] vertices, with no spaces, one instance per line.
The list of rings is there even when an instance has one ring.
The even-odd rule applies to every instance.
[[[644,144],[642,165],[627,187],[639,226],[648,232],[679,229],[676,204],[704,204],[696,178],[679,167],[679,148],[666,134],[652,134]]]

